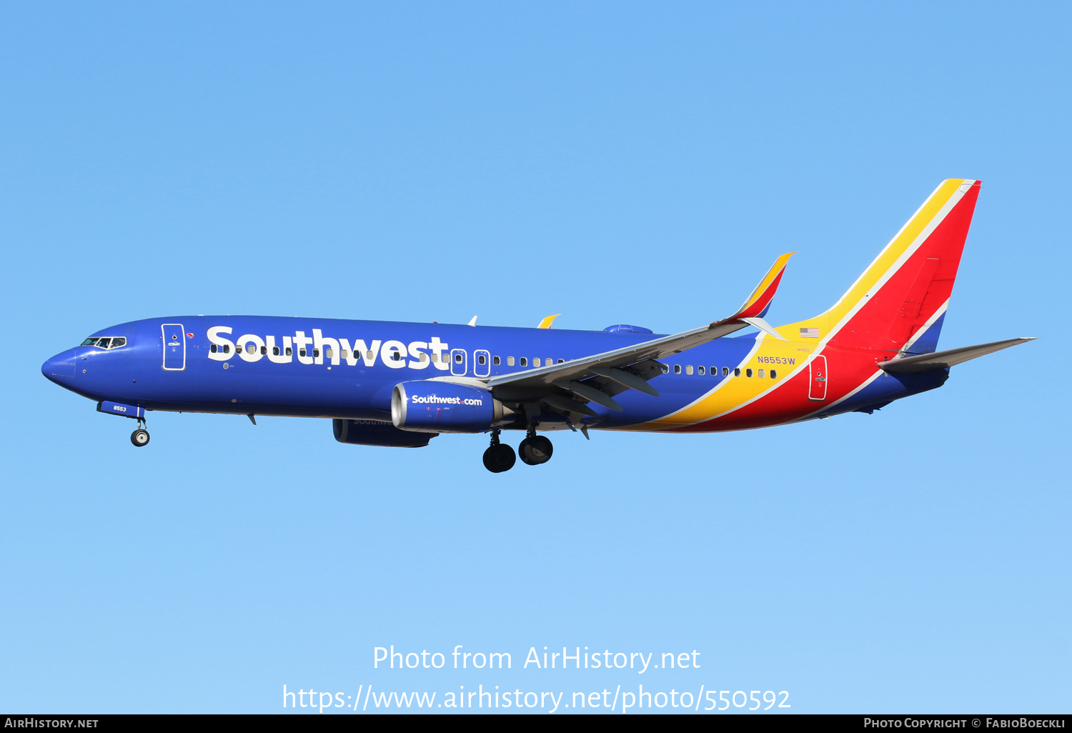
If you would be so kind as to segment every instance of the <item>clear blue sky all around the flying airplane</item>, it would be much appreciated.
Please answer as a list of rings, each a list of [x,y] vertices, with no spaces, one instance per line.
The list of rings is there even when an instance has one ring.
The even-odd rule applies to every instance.
[[[1070,36],[1067,3],[9,4],[0,708],[1068,712]],[[790,323],[950,177],[983,189],[941,345],[1039,340],[873,416],[559,435],[496,476],[486,436],[322,420],[153,414],[134,449],[40,373],[180,314],[673,332],[795,250]],[[390,644],[513,669],[373,670]],[[545,645],[701,668],[519,669]]]

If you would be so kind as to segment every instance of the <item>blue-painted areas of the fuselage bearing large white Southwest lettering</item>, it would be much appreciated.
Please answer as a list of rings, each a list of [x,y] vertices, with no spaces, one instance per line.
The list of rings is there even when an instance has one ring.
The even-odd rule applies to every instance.
[[[78,346],[49,359],[53,382],[95,401],[148,410],[391,420],[400,382],[479,379],[609,351],[656,338],[650,332],[569,331],[273,316],[183,316],[121,324],[93,338],[121,346]],[[89,341],[89,340],[87,340]],[[592,428],[656,421],[734,378],[755,334],[723,338],[662,359],[659,397],[626,390],[621,413],[592,404]],[[786,364],[783,374],[793,369]],[[679,373],[680,372],[680,373]],[[749,371],[749,376],[751,372]],[[927,386],[887,379],[868,403]],[[934,385],[937,386],[937,385]],[[859,408],[859,401],[833,413]],[[818,406],[818,405],[817,405]],[[833,407],[833,406],[832,406]],[[553,413],[544,429],[561,424]]]

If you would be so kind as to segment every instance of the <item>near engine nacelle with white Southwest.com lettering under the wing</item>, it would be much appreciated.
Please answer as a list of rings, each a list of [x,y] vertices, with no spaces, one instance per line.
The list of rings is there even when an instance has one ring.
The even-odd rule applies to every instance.
[[[391,421],[422,433],[482,433],[509,422],[513,410],[479,387],[423,379],[394,385]]]

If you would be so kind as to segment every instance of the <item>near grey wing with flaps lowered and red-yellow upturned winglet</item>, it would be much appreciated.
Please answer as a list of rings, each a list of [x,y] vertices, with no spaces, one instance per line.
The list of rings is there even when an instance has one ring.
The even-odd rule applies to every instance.
[[[770,329],[762,316],[771,305],[792,254],[778,257],[744,304],[728,318],[565,363],[493,377],[488,380],[488,388],[504,402],[538,401],[564,413],[593,417],[598,414],[587,405],[589,402],[621,412],[621,405],[612,398],[626,389],[657,397],[658,392],[647,382],[662,373],[658,359],[720,339],[749,325]]]

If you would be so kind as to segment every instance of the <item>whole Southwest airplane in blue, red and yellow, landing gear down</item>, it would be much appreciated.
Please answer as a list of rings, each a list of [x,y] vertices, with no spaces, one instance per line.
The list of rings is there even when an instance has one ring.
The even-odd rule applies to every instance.
[[[109,415],[224,413],[330,418],[341,443],[417,448],[440,433],[490,433],[488,470],[513,466],[503,430],[524,431],[528,465],[551,458],[541,432],[670,433],[764,428],[872,413],[940,387],[949,370],[1030,339],[937,350],[979,196],[939,185],[825,313],[774,327],[766,315],[790,255],[741,309],[673,335],[272,316],[181,316],[98,331],[42,366]],[[755,326],[756,333],[730,336]]]

